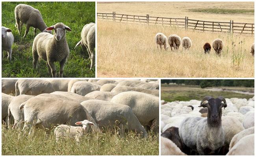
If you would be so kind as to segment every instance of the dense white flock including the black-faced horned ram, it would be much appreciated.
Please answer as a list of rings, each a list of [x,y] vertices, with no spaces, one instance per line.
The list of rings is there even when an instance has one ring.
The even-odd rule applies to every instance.
[[[254,97],[161,104],[161,155],[254,155]]]

